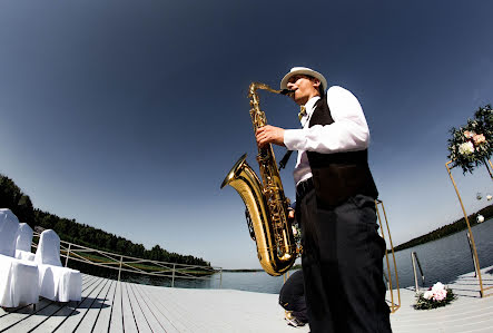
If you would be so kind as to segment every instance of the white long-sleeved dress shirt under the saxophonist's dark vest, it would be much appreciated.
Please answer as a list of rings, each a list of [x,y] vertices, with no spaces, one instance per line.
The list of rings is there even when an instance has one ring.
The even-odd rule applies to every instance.
[[[310,98],[305,107],[306,115],[302,118],[302,129],[286,129],[284,144],[289,150],[298,150],[293,176],[295,184],[312,177],[306,151],[323,154],[363,150],[369,144],[369,130],[365,115],[357,98],[348,90],[333,86],[327,90],[327,105],[334,123],[315,125],[310,128],[309,119],[319,96]]]

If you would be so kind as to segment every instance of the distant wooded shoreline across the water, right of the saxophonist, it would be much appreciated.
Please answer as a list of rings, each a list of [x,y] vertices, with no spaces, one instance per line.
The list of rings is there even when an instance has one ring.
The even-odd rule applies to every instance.
[[[477,224],[476,217],[479,215],[483,215],[484,219],[489,219],[493,216],[493,205],[490,205],[487,207],[484,207],[480,209],[479,212],[471,214],[467,216],[469,223],[471,224],[471,227],[475,226]],[[465,218],[462,217],[461,219],[457,219],[451,224],[444,225],[426,235],[416,237],[411,239],[410,242],[403,243],[398,246],[394,247],[394,251],[401,251],[410,247],[414,247],[416,245],[421,245],[424,243],[428,243],[432,241],[436,241],[438,238],[443,238],[445,236],[462,232],[463,229],[467,228],[467,224],[465,223]]]

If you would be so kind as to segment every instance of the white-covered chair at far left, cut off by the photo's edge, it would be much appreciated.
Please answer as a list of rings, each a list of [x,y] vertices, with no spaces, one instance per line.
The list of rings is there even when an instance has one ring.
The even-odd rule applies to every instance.
[[[19,219],[7,208],[0,209],[0,306],[18,307],[39,301],[38,265],[17,259],[16,235]]]

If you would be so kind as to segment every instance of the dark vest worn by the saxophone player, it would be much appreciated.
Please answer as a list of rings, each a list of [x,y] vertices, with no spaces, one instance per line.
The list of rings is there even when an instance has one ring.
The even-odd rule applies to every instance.
[[[309,127],[331,125],[334,119],[325,97],[315,104]],[[368,167],[368,150],[321,154],[306,151],[312,168],[317,202],[333,207],[357,194],[377,198],[378,190]]]

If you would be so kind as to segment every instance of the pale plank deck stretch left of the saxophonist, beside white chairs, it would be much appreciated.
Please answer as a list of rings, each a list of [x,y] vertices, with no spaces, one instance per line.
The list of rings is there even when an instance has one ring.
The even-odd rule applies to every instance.
[[[81,302],[0,310],[0,332],[292,332],[277,295],[83,275]]]

